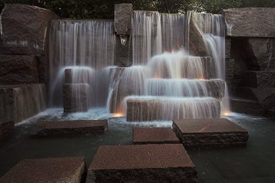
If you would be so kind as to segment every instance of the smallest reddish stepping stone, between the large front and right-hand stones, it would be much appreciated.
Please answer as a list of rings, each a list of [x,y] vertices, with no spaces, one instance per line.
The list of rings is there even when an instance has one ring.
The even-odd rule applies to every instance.
[[[133,144],[176,144],[181,143],[170,127],[135,127]]]

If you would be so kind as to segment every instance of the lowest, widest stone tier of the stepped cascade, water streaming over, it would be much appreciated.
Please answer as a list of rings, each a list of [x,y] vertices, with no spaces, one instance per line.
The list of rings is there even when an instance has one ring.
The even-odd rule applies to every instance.
[[[124,101],[127,121],[219,118],[221,112],[220,101],[211,97],[130,96]]]

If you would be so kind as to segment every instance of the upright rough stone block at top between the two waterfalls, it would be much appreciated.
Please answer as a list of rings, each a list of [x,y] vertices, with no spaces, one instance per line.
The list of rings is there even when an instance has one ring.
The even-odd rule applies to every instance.
[[[130,35],[132,23],[133,5],[131,3],[115,4],[115,33],[118,35]]]

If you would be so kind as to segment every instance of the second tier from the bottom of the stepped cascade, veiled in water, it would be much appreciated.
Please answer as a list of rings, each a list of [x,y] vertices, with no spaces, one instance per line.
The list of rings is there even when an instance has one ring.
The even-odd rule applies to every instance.
[[[149,79],[146,95],[169,97],[222,98],[225,82],[222,80]]]

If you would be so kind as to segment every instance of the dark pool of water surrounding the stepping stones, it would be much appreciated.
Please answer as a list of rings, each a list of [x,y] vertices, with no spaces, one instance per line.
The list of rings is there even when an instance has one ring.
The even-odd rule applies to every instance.
[[[250,134],[246,147],[187,149],[197,167],[199,182],[275,182],[275,121],[232,113],[228,119],[241,125]],[[76,119],[108,119],[104,134],[35,138],[37,121]],[[133,127],[171,127],[172,121],[129,123],[113,118],[104,109],[63,114],[62,108],[48,109],[16,125],[10,141],[0,146],[0,176],[25,158],[84,156],[87,166],[100,145],[131,145]]]

